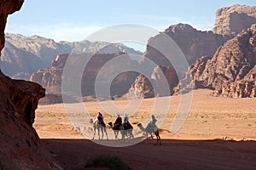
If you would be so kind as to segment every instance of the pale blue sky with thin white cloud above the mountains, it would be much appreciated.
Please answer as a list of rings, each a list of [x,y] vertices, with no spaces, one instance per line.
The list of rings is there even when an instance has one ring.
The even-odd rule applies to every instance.
[[[255,0],[26,0],[19,12],[9,16],[6,32],[81,41],[94,31],[120,24],[164,31],[181,22],[212,30],[216,9],[235,3],[256,5]]]

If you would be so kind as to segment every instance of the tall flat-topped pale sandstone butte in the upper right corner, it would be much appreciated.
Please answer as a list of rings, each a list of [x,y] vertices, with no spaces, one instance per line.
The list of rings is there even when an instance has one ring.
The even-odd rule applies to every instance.
[[[218,8],[213,32],[221,35],[236,35],[256,23],[256,7],[232,5]]]

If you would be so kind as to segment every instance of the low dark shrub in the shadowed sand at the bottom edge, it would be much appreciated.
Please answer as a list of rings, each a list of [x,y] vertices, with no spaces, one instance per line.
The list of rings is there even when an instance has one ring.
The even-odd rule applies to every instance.
[[[108,167],[113,170],[131,170],[131,167],[119,156],[96,156],[90,158],[84,167]]]

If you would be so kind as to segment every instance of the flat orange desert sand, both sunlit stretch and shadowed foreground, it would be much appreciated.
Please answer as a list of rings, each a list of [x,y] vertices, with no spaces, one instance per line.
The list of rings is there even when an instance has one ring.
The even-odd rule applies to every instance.
[[[160,98],[171,101],[164,116],[160,113],[164,112],[165,102],[157,104],[157,110],[153,111],[154,99],[143,99],[140,108],[130,116],[135,137],[140,142],[131,140],[128,144],[127,140],[129,146],[126,147],[96,144],[97,135],[95,140],[90,140],[93,133],[87,122],[90,117],[80,119],[81,123],[73,126],[76,123],[70,122],[73,118],[70,119],[71,113],[67,112],[79,113],[76,104],[68,104],[73,108],[68,111],[63,104],[38,105],[33,127],[64,169],[84,169],[89,157],[99,155],[120,156],[132,169],[254,169],[256,99],[227,99],[212,97],[210,93],[206,89],[193,91],[189,114],[177,133],[170,130],[181,96]],[[109,105],[106,101],[104,104]],[[125,110],[127,104],[125,100],[114,101],[120,109],[111,114],[102,110],[97,102],[83,105],[90,116],[96,117],[97,111],[102,111],[105,122],[113,122],[120,111],[129,112],[129,108]],[[147,125],[152,114],[159,119],[161,145],[154,145],[152,139],[143,140],[144,133],[137,127],[138,122]],[[118,146],[119,141],[113,140],[113,131],[110,128],[107,131],[113,146]],[[105,137],[102,141],[107,142]]]

